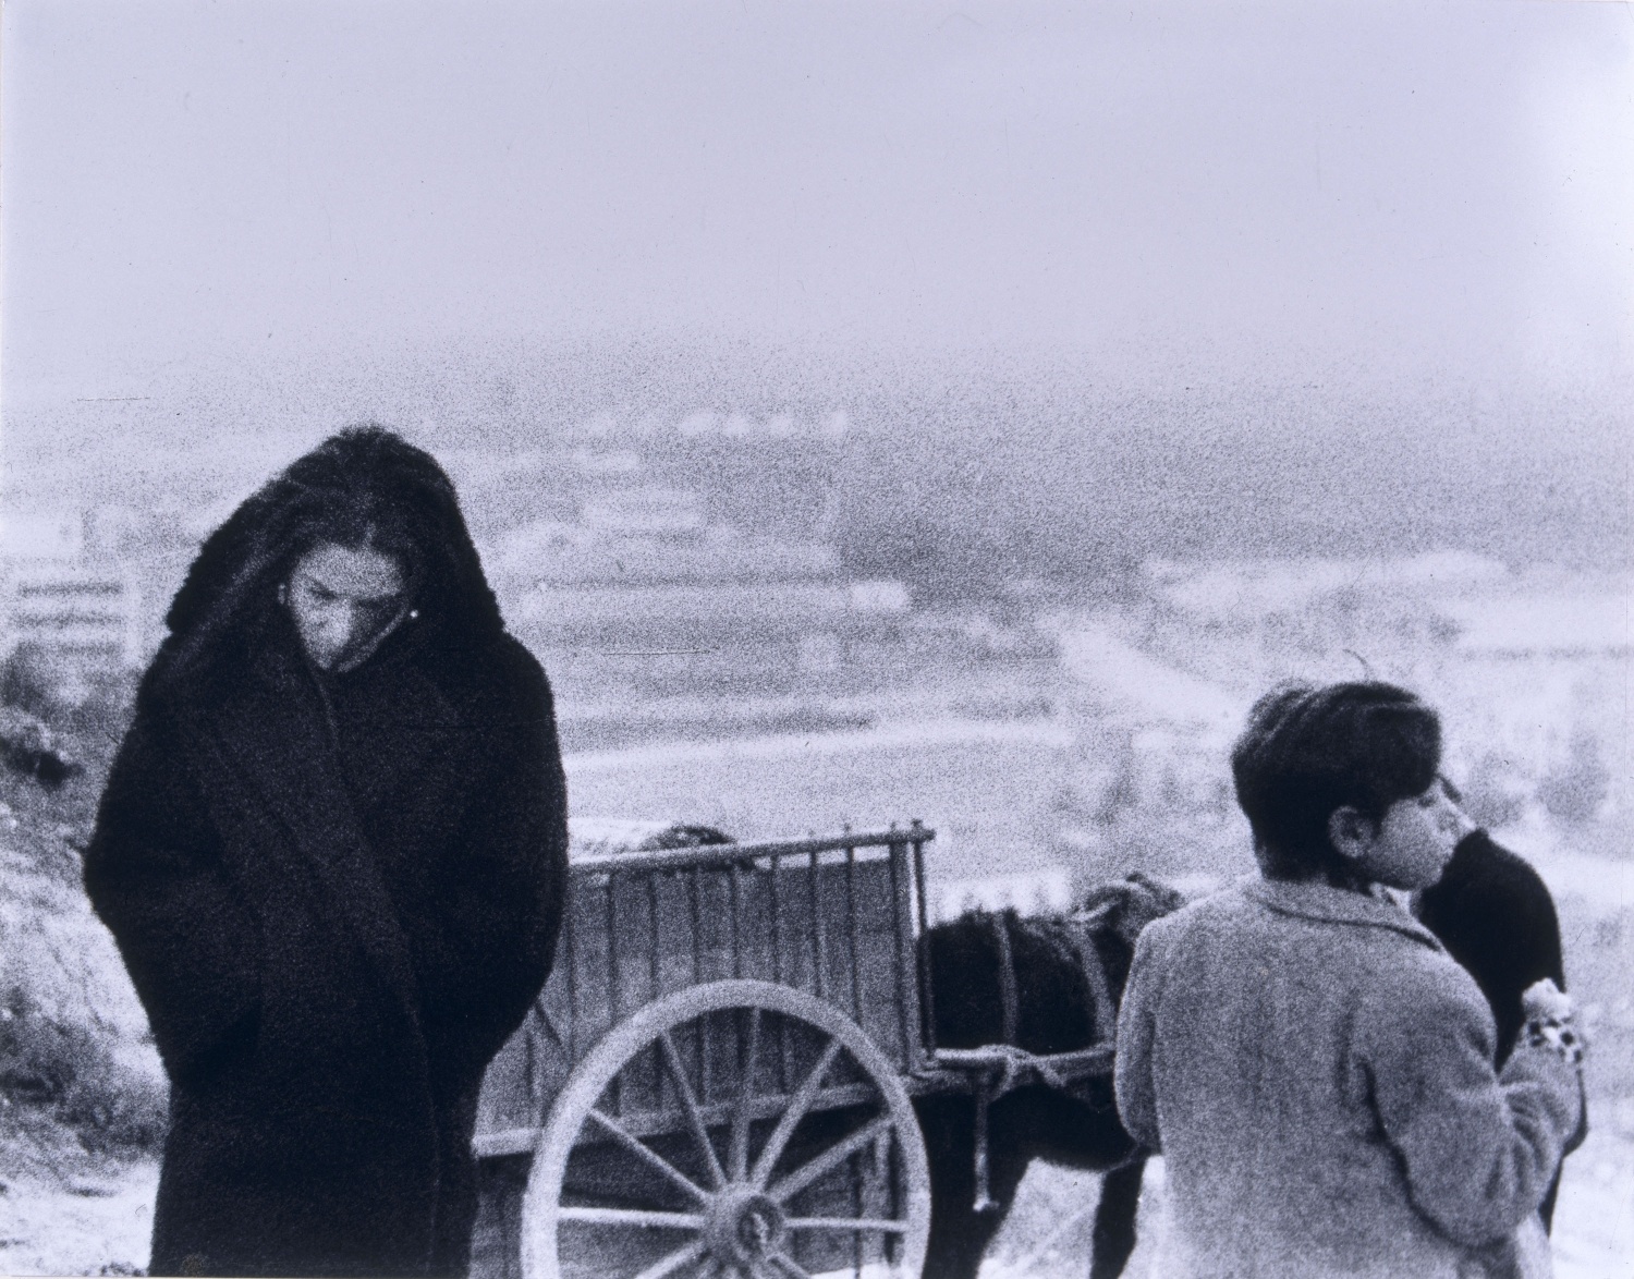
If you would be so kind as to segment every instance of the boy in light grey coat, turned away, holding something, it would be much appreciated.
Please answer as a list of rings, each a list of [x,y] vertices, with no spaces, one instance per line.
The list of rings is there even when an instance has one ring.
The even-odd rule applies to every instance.
[[[1498,1075],[1474,980],[1374,892],[1451,858],[1440,763],[1436,714],[1389,684],[1255,704],[1232,773],[1261,879],[1149,926],[1118,1019],[1165,1279],[1454,1279],[1538,1210],[1578,1119],[1565,998],[1533,995]]]

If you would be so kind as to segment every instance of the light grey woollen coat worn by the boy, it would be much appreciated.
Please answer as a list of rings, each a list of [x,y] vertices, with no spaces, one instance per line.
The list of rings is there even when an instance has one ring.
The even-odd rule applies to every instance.
[[[1159,920],[1118,1021],[1118,1111],[1167,1165],[1163,1276],[1451,1279],[1536,1210],[1577,1068],[1493,1073],[1474,980],[1394,903],[1260,880]]]

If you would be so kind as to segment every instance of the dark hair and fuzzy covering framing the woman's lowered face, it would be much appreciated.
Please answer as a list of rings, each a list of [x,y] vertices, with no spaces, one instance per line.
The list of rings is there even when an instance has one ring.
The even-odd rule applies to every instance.
[[[276,617],[278,586],[319,542],[397,560],[415,626],[443,644],[503,627],[443,467],[382,426],[351,426],[291,462],[204,539],[165,614],[160,683],[243,657]]]

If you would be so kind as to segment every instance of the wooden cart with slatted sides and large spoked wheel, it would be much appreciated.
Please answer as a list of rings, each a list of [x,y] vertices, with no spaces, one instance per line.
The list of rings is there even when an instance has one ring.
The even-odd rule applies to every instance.
[[[928,1044],[933,838],[575,859],[556,970],[484,1083],[474,1274],[917,1279],[912,1098],[1020,1078]]]

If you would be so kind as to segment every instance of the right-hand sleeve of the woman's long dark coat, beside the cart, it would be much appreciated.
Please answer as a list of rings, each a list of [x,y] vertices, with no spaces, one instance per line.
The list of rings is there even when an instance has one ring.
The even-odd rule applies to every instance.
[[[556,957],[567,890],[567,781],[551,686],[521,650],[511,696],[492,715],[489,769],[456,840],[444,885],[453,969],[433,1014],[458,1024],[459,1052],[487,1063],[521,1024]]]

